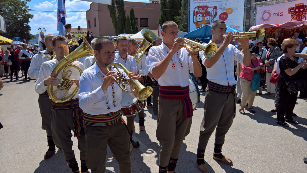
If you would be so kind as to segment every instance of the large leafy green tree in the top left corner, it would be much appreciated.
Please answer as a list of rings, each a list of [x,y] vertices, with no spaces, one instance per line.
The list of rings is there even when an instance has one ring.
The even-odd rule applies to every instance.
[[[29,14],[31,10],[27,3],[31,0],[1,0],[0,8],[3,10],[1,14],[5,19],[7,33],[4,37],[13,38],[20,37],[21,40],[27,37],[28,40],[35,38],[30,34],[31,27],[29,25],[30,19],[33,18]]]

